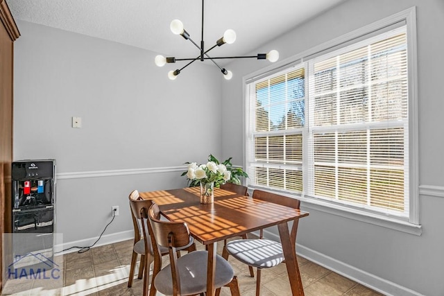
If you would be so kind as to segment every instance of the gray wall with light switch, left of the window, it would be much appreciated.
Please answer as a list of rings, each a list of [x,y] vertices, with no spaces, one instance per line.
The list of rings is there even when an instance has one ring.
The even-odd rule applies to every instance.
[[[219,69],[195,63],[171,81],[151,51],[17,25],[14,159],[56,159],[56,230],[67,246],[94,242],[113,205],[120,216],[105,236],[130,236],[130,191],[185,186],[184,162],[220,155]]]

